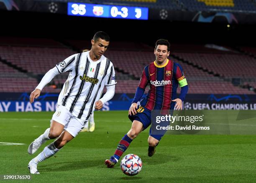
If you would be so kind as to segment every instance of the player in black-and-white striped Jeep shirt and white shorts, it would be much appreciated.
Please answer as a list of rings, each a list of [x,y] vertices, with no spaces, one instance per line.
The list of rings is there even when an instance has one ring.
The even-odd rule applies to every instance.
[[[113,98],[115,70],[110,60],[103,55],[108,48],[109,40],[107,33],[95,33],[90,51],[71,55],[57,64],[44,75],[31,93],[30,102],[33,103],[54,76],[69,72],[69,77],[59,94],[50,128],[29,145],[28,153],[35,153],[46,140],[56,140],[28,163],[30,173],[39,174],[38,163],[56,154],[82,130],[94,110],[100,110],[105,102]],[[107,92],[100,98],[104,86]]]

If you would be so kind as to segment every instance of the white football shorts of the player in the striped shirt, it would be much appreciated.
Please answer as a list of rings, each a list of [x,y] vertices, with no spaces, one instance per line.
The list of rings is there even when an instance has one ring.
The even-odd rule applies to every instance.
[[[84,123],[87,122],[72,115],[63,105],[57,105],[52,120],[64,125],[64,130],[70,133],[73,137],[77,136],[82,128],[84,128]]]

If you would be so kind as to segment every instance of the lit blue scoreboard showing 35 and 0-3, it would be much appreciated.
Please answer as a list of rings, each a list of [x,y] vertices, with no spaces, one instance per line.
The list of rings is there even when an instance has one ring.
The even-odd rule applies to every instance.
[[[69,2],[67,14],[85,17],[148,20],[148,8],[145,7],[96,5]]]

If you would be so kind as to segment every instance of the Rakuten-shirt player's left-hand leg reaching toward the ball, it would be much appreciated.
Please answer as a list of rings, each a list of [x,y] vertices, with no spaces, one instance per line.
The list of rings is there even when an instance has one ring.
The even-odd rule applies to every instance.
[[[118,162],[120,157],[123,155],[125,150],[130,145],[132,140],[134,138],[136,138],[138,136],[138,134],[141,133],[142,130],[143,130],[143,123],[141,123],[138,120],[134,120],[132,123],[131,129],[120,140],[118,147],[115,150],[114,155],[111,156],[110,159],[105,160],[105,164],[108,166],[108,168],[114,167],[114,165]]]

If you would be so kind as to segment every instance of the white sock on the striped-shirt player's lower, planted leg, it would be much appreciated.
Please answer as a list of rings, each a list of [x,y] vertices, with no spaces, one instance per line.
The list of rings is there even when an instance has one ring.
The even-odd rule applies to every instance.
[[[50,158],[51,156],[56,154],[58,151],[59,149],[55,147],[54,142],[50,143],[44,148],[44,150],[40,154],[36,156],[36,158],[34,158],[34,161],[36,164],[38,164],[39,162],[46,160],[47,158]]]

